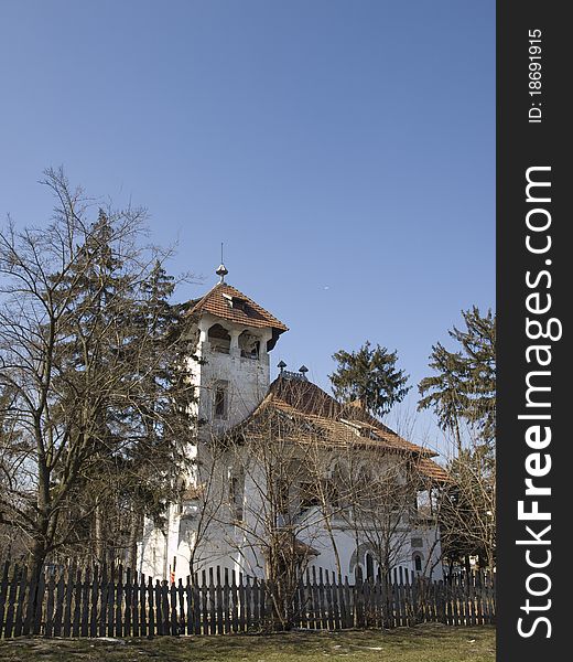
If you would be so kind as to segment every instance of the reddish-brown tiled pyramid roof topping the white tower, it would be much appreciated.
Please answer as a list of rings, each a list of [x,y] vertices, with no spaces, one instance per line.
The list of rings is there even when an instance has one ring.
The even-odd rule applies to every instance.
[[[190,316],[208,312],[236,324],[288,331],[280,320],[228,282],[217,282],[202,299],[192,302]]]

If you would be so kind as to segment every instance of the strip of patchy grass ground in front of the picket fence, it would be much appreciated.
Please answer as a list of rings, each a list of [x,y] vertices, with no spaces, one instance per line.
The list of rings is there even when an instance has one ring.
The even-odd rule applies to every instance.
[[[43,662],[493,662],[495,629],[442,624],[380,631],[0,641],[0,660]]]

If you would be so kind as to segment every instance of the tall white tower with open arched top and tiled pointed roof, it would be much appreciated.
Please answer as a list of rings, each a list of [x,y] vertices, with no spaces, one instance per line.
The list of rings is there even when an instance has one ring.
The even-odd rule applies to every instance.
[[[190,573],[190,559],[201,538],[196,513],[206,499],[205,482],[209,482],[216,508],[226,498],[229,485],[238,480],[230,467],[224,477],[209,476],[209,438],[241,423],[264,398],[270,386],[269,352],[288,330],[270,312],[225,282],[228,271],[223,264],[216,273],[219,282],[201,299],[191,301],[187,312],[187,334],[195,355],[188,359],[187,367],[196,395],[190,414],[203,423],[197,428],[199,442],[187,449],[193,462],[182,471],[180,502],[167,505],[163,526],[151,519],[145,521],[138,553],[139,572],[156,578],[174,579]],[[237,482],[235,489],[238,493],[244,485]],[[203,508],[207,513],[208,506]],[[201,538],[202,554],[233,568],[238,563],[237,552],[228,547],[226,536],[212,522],[208,541]]]

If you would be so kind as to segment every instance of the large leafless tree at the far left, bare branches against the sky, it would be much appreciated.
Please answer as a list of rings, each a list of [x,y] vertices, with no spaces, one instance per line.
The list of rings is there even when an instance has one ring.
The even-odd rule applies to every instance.
[[[188,429],[176,423],[184,389],[161,376],[173,339],[158,348],[156,334],[136,332],[134,301],[158,258],[140,247],[144,211],[108,209],[90,222],[90,201],[62,171],[43,183],[52,222],[19,231],[9,220],[0,232],[0,521],[23,534],[35,573],[82,540],[112,465],[134,467],[138,445],[140,458],[152,448],[164,479],[159,448],[174,451]],[[154,393],[142,388],[150,375]],[[162,391],[171,404],[158,408]]]

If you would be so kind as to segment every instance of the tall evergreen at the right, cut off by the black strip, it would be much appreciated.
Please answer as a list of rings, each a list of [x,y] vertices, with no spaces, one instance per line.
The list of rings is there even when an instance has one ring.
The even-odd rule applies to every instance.
[[[454,436],[456,455],[448,463],[452,483],[441,502],[442,543],[451,563],[477,556],[495,564],[496,318],[477,307],[462,312],[465,329],[448,331],[456,351],[432,348],[435,374],[419,384],[418,408],[431,408],[440,427]],[[465,434],[467,425],[468,435]]]

